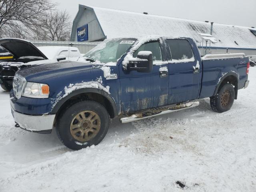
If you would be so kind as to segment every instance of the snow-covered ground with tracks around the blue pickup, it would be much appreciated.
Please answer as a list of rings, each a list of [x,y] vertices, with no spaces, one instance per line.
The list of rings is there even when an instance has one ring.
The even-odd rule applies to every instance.
[[[232,109],[196,108],[130,124],[113,120],[98,145],[71,151],[56,133],[14,127],[0,90],[0,191],[256,191],[256,67]],[[176,181],[187,187],[180,188]]]

